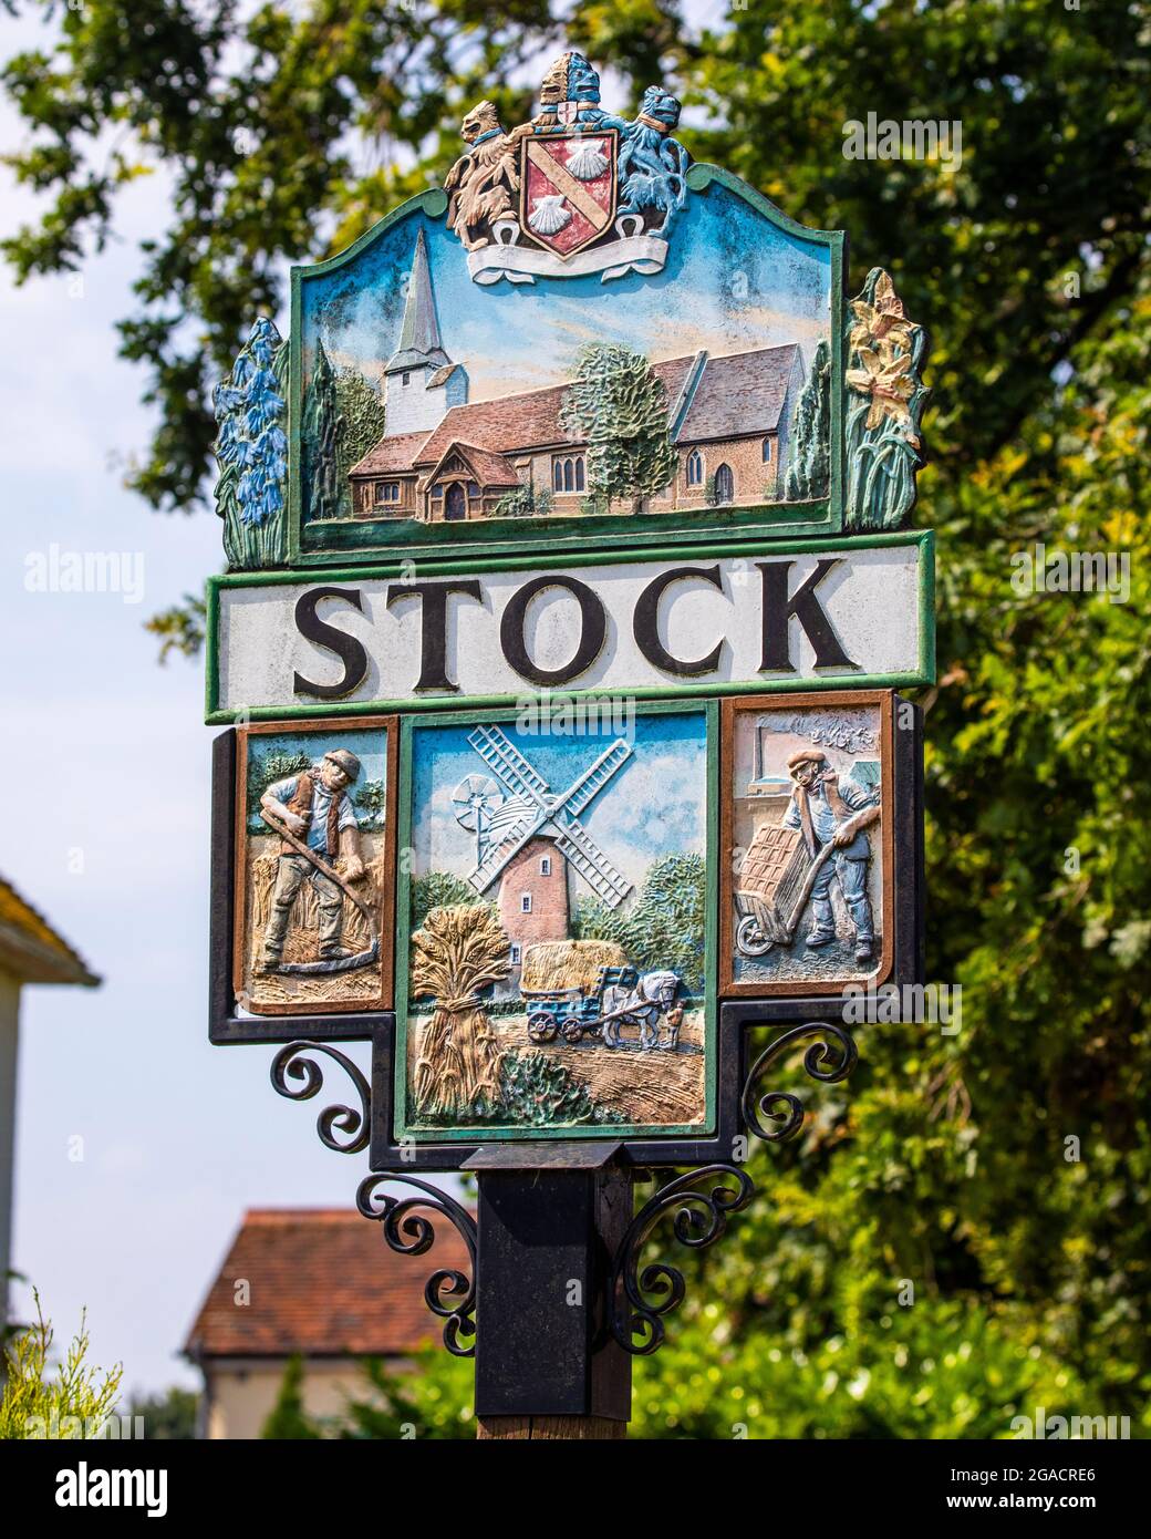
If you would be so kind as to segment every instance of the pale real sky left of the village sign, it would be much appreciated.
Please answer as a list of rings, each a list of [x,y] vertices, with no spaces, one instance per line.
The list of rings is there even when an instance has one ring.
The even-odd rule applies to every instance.
[[[5,18],[5,51],[38,38]],[[0,102],[0,145],[20,137]],[[31,208],[0,169],[0,228]],[[123,1362],[126,1391],[199,1384],[177,1353],[245,1208],[351,1208],[368,1168],[320,1143],[326,1099],[275,1094],[272,1048],[208,1045],[214,729],[202,662],[160,668],[142,626],[222,569],[220,523],[149,512],[117,468],[149,416],[114,322],[165,217],[165,185],[143,179],[82,282],[15,289],[0,268],[3,762],[29,790],[0,873],[105,979],[23,991],[14,1264],[58,1342],[86,1307],[92,1360]],[[68,553],[126,554],[128,591],[51,591]],[[346,1099],[339,1071],[326,1088]],[[28,1317],[28,1287],[14,1305]]]

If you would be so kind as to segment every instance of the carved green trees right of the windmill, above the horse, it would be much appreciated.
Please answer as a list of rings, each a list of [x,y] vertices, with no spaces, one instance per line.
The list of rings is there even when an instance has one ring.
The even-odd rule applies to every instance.
[[[616,940],[640,971],[676,968],[692,994],[703,993],[703,856],[660,856],[643,879],[632,908],[622,914],[597,897],[580,897],[572,919],[576,940]]]

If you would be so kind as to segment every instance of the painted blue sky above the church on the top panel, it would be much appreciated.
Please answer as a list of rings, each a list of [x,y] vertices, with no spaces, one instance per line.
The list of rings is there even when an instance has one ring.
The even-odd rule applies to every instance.
[[[566,382],[582,343],[620,342],[651,362],[706,348],[742,352],[797,342],[805,363],[829,334],[831,252],[779,229],[719,183],[688,195],[660,274],[502,282],[468,275],[465,251],[415,211],[355,259],[302,283],[305,368],[317,334],[332,363],[382,382],[395,351],[417,231],[428,240],[443,348],[471,400]]]

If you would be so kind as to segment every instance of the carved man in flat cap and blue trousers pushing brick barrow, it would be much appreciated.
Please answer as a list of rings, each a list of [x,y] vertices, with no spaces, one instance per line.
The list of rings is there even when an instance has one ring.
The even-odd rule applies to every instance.
[[[811,888],[811,930],[805,937],[806,943],[826,946],[836,939],[831,882],[839,877],[843,902],[856,926],[856,962],[863,966],[876,950],[876,926],[868,902],[871,842],[863,825],[876,822],[879,803],[851,780],[840,783],[839,774],[828,765],[828,756],[819,748],[803,748],[792,754],[788,773],[792,791],[783,826],[803,831],[803,842],[812,859],[823,845],[831,843],[834,848]],[[863,811],[871,816],[852,822]]]

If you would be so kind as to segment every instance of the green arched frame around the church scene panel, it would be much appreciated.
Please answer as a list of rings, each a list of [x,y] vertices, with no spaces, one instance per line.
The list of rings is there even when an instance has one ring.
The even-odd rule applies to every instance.
[[[845,369],[846,369],[846,232],[842,229],[808,229],[789,219],[782,209],[757,192],[740,177],[720,166],[694,165],[688,171],[688,188],[706,195],[711,185],[726,188],[743,199],[757,214],[783,234],[812,245],[826,246],[831,259],[831,483],[829,496],[811,503],[757,503],[751,506],[708,508],[708,534],[748,536],[766,539],[789,539],[796,536],[837,536],[843,531],[843,505],[846,466],[843,463],[845,426]],[[583,549],[592,537],[600,549],[645,549],[651,545],[699,540],[699,516],[682,509],[659,514],[602,514],[571,519],[477,519],[474,523],[431,525],[420,520],[348,519],[328,525],[305,525],[302,508],[302,448],[300,428],[303,422],[303,285],[309,279],[335,272],[374,245],[395,225],[406,219],[425,215],[439,220],[448,209],[448,195],[442,188],[429,188],[386,214],[371,229],[365,231],[346,251],[325,262],[314,262],[291,269],[291,326],[288,360],[288,565],[294,568],[331,566],[340,562],[368,562],[388,556],[403,556],[409,560],[448,562],[465,553],[471,557],[486,557],[499,553],[515,553],[526,546],[548,549]],[[637,520],[642,526],[637,528]],[[689,522],[691,520],[691,522]],[[591,528],[589,528],[591,523]],[[492,525],[506,525],[506,532],[492,532]],[[317,537],[319,531],[319,537]],[[385,536],[385,539],[379,539]],[[366,543],[377,537],[379,543]]]

